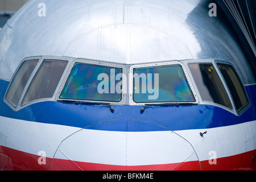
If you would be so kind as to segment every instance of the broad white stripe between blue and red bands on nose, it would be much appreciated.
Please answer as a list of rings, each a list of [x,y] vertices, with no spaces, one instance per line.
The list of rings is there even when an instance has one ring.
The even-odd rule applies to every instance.
[[[48,158],[117,166],[204,161],[256,149],[256,121],[205,129],[204,137],[200,132],[205,130],[100,131],[4,117],[0,117],[0,128],[0,146],[33,155],[44,151]]]

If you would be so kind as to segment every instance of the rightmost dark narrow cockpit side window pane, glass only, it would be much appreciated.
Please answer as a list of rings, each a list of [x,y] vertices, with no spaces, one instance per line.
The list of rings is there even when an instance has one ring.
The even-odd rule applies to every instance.
[[[222,76],[224,77],[224,80],[226,81],[226,84],[228,85],[234,105],[239,113],[249,104],[249,100],[246,97],[246,92],[242,86],[242,82],[240,81],[240,78],[232,65],[222,63],[217,63],[217,65]]]

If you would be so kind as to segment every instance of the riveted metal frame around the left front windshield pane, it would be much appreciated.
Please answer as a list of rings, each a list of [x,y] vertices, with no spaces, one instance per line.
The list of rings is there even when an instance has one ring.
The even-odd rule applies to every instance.
[[[114,101],[93,101],[93,100],[79,100],[79,99],[69,99],[69,98],[61,98],[61,93],[63,92],[63,89],[65,87],[66,82],[68,81],[69,75],[72,72],[72,69],[75,67],[77,63],[80,64],[89,64],[89,65],[99,65],[104,67],[111,67],[111,68],[121,68],[122,74],[125,75],[125,77],[122,77],[122,93],[121,93],[121,100],[118,102]],[[125,105],[126,101],[126,65],[123,64],[115,64],[115,63],[109,63],[105,61],[96,61],[96,60],[89,60],[89,59],[76,59],[72,61],[72,63],[69,65],[67,72],[64,73],[63,81],[61,82],[61,85],[58,89],[58,92],[56,94],[56,101],[69,101],[69,102],[81,102],[81,103],[90,103],[90,104],[109,104],[109,105]]]

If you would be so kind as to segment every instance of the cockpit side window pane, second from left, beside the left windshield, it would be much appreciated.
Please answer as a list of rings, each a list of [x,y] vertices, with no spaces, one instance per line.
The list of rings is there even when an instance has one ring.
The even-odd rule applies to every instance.
[[[22,105],[41,98],[51,98],[68,61],[44,60],[23,98]]]

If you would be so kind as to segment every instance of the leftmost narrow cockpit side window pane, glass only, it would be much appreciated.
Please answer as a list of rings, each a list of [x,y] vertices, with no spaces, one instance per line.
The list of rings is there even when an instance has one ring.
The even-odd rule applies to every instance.
[[[24,61],[20,65],[18,71],[16,71],[13,80],[11,80],[5,99],[14,107],[18,105],[23,89],[26,86],[28,78],[30,78],[31,73],[33,72],[38,61],[38,59]]]

